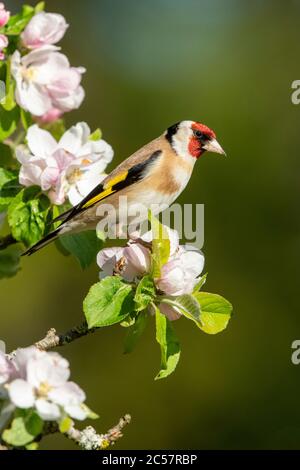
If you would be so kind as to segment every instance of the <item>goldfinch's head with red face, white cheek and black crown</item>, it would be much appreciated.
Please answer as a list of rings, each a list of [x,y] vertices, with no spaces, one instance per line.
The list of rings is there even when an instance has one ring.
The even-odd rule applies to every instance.
[[[180,157],[194,162],[206,151],[225,155],[214,131],[197,121],[173,124],[166,130],[165,137]]]

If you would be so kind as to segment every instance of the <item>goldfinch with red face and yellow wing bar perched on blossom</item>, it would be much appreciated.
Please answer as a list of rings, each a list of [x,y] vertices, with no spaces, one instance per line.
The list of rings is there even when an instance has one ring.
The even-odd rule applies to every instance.
[[[127,197],[128,212],[137,204],[168,207],[184,190],[196,160],[206,151],[225,155],[209,127],[195,121],[170,126],[124,160],[79,204],[57,217],[54,221],[62,220],[61,225],[24,254],[31,255],[60,235],[95,229],[101,218],[99,206],[109,204],[118,212],[121,196]]]

